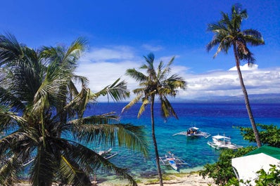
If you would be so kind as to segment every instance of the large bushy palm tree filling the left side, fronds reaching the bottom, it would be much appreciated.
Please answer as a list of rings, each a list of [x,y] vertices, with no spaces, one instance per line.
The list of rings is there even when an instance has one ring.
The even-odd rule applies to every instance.
[[[0,185],[14,185],[22,171],[28,171],[32,185],[91,185],[97,168],[136,185],[127,169],[88,147],[118,142],[147,154],[141,126],[120,124],[113,112],[83,117],[89,101],[100,95],[115,100],[129,95],[120,79],[92,93],[87,79],[74,74],[84,44],[77,39],[69,48],[34,51],[11,34],[0,35],[0,132],[6,132],[0,138]]]

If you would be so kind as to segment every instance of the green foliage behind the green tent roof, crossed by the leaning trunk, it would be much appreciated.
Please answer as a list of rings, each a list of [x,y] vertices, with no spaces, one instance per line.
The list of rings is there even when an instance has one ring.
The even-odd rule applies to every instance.
[[[280,147],[280,128],[273,124],[257,124],[262,145],[269,145],[272,147]],[[243,135],[244,140],[255,142],[255,135],[252,128],[238,127]]]

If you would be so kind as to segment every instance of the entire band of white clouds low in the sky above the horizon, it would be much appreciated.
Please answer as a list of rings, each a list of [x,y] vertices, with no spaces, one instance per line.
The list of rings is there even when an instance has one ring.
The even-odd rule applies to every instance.
[[[158,58],[168,62],[172,56]],[[114,60],[114,61],[112,61]],[[94,48],[86,53],[79,62],[77,74],[87,77],[92,91],[112,84],[117,78],[127,81],[129,90],[138,87],[138,84],[125,75],[126,69],[138,69],[144,62],[142,57],[134,55],[132,48]],[[155,65],[157,65],[155,64]],[[280,67],[274,69],[259,69],[257,66],[246,70],[242,66],[243,80],[248,94],[280,93]],[[245,68],[245,69],[244,69]],[[242,95],[238,74],[234,68],[227,71],[213,71],[205,74],[191,74],[189,68],[177,66],[174,62],[171,74],[179,74],[187,81],[185,91],[179,91],[178,98],[191,100],[194,98],[211,98],[217,95]],[[134,95],[132,94],[132,98]],[[104,98],[103,100],[105,100]],[[102,100],[102,99],[101,99]]]

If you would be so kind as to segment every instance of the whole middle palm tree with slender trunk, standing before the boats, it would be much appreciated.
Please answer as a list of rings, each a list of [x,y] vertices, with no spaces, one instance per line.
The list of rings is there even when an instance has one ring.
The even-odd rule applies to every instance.
[[[167,119],[172,115],[173,117],[177,118],[177,114],[174,112],[172,105],[170,104],[169,100],[167,100],[167,95],[175,97],[177,95],[177,88],[185,88],[186,81],[179,77],[177,74],[173,74],[171,77],[168,77],[168,74],[171,71],[170,65],[174,60],[174,57],[168,62],[166,67],[163,65],[163,61],[160,61],[158,65],[158,69],[154,68],[154,55],[153,53],[148,54],[145,57],[146,64],[142,65],[140,69],[146,70],[146,74],[137,71],[136,69],[127,69],[127,75],[135,79],[139,82],[140,88],[134,89],[134,93],[136,94],[136,98],[134,98],[128,105],[126,105],[122,112],[125,109],[132,107],[136,102],[140,99],[142,101],[142,105],[138,112],[138,117],[144,112],[146,106],[151,104],[151,129],[152,129],[152,138],[153,138],[153,145],[155,148],[155,159],[158,168],[158,177],[160,180],[160,185],[163,185],[163,178],[160,171],[160,161],[158,156],[158,145],[155,138],[155,119],[154,119],[154,103],[155,103],[155,96],[158,95],[160,104],[161,104],[161,112],[163,117]]]

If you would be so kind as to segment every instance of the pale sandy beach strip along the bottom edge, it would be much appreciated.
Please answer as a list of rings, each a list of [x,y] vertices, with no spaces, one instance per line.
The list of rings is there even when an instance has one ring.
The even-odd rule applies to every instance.
[[[148,178],[137,180],[137,184],[139,186],[158,186],[160,185],[156,178]],[[203,179],[198,173],[178,173],[178,174],[170,174],[164,176],[163,184],[165,186],[215,186],[214,180],[212,178]],[[128,182],[122,180],[114,180],[114,181],[105,181],[105,182],[97,182],[98,186],[125,186],[128,185]]]

